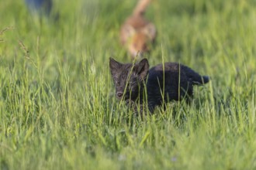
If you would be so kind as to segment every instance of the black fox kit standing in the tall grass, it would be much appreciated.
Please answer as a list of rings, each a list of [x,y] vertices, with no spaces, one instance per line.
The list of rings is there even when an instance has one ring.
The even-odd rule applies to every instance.
[[[143,104],[147,94],[147,107],[154,107],[171,100],[193,97],[193,86],[209,82],[208,76],[200,76],[180,63],[164,63],[149,70],[147,59],[139,63],[119,63],[110,58],[110,71],[116,87],[116,97],[121,100]],[[147,88],[147,90],[145,90]]]

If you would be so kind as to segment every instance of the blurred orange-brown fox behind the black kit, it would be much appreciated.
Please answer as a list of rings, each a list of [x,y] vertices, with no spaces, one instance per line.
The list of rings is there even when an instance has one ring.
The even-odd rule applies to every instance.
[[[133,57],[142,56],[144,52],[148,52],[150,44],[154,42],[157,35],[154,24],[144,18],[144,12],[149,3],[150,0],[139,0],[133,14],[121,27],[121,42]]]

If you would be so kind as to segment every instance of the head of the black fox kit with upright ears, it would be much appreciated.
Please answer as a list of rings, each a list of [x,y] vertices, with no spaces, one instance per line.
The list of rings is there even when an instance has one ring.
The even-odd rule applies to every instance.
[[[119,63],[110,58],[109,67],[116,87],[116,97],[119,100],[136,100],[140,87],[144,86],[147,78],[149,70],[147,59],[142,59],[140,63],[133,65],[132,63]]]

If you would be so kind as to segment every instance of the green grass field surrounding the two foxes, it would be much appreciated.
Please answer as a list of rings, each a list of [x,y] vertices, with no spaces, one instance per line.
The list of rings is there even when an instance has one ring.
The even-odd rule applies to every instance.
[[[150,66],[211,76],[191,105],[141,121],[116,100],[109,57],[136,1],[54,1],[50,19],[0,2],[0,169],[255,169],[256,3],[153,1]],[[54,20],[58,15],[59,19]]]

